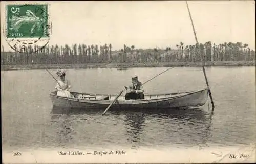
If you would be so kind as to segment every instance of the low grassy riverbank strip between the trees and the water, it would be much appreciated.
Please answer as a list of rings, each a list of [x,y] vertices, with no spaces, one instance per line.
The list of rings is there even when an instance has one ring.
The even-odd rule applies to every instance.
[[[90,64],[25,64],[1,65],[1,71],[20,69],[90,69],[90,68],[133,68],[133,67],[198,67],[201,62],[148,62],[148,63],[90,63]],[[205,62],[205,66],[255,66],[255,61],[214,61]]]

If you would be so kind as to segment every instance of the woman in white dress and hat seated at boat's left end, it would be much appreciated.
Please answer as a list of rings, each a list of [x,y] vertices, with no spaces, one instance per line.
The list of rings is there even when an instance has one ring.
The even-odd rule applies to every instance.
[[[55,86],[55,89],[57,89],[57,95],[58,96],[63,96],[63,97],[74,98],[74,96],[69,92],[69,89],[71,88],[71,84],[65,78],[66,77],[66,70],[65,69],[58,69],[56,74],[59,77],[58,83]]]

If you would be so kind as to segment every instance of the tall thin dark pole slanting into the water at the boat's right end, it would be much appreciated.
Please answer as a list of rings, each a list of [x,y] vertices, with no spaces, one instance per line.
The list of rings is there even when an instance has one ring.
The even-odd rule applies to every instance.
[[[187,4],[187,1],[186,1],[186,4]],[[199,43],[198,43],[198,40],[197,40],[197,34],[196,34],[196,30],[195,30],[195,27],[194,27],[194,24],[193,24],[193,20],[192,20],[192,17],[191,17],[189,8],[188,8],[188,4],[187,4],[187,10],[188,10],[188,14],[189,14],[189,17],[190,17],[190,20],[191,20],[191,24],[192,24],[192,28],[193,28],[193,31],[194,31],[195,39],[196,39],[196,42],[197,42],[197,45],[198,45],[198,48],[199,48]],[[207,77],[206,77],[206,72],[205,72],[205,69],[204,69],[204,60],[203,60],[203,57],[201,55],[200,50],[199,50],[199,55],[201,56],[202,67],[203,67],[203,72],[204,72],[204,78],[205,78],[206,85],[208,87],[208,92],[209,92],[211,106],[212,106],[212,111],[213,111],[214,110],[214,100],[212,99],[212,96],[211,96],[210,87],[209,87],[208,80],[207,80]]]

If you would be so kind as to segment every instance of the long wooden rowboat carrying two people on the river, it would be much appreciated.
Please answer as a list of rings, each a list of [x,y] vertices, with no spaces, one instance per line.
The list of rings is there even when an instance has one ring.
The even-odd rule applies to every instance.
[[[91,94],[71,92],[74,98],[58,96],[56,91],[50,93],[50,99],[55,107],[71,107],[84,109],[104,110],[117,95]],[[111,108],[117,109],[143,109],[143,108],[189,108],[202,106],[206,102],[208,88],[189,92],[176,92],[167,94],[145,94],[144,99],[125,100],[120,95]]]

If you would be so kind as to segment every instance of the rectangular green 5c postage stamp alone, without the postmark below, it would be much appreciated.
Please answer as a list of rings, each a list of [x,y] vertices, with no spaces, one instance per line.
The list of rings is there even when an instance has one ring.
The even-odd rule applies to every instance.
[[[7,38],[49,37],[48,5],[7,5]]]

